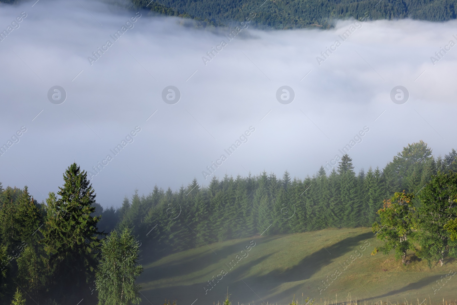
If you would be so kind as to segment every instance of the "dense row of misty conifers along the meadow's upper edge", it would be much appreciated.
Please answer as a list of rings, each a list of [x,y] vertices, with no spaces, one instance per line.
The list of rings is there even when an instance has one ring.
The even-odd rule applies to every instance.
[[[257,176],[213,177],[206,187],[197,179],[177,191],[156,186],[147,196],[124,198],[120,209],[103,210],[99,229],[130,227],[156,249],[179,251],[262,233],[370,227],[384,199],[402,190],[420,192],[437,171],[457,171],[456,156],[452,150],[435,158],[420,141],[404,147],[382,170],[370,167],[356,173],[345,155],[329,174],[321,167],[303,180],[292,179],[287,171],[282,177],[264,171]]]

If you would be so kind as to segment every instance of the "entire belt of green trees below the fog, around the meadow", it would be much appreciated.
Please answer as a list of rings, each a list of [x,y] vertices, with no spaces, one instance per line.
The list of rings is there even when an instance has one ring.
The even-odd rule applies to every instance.
[[[42,203],[30,195],[27,186],[4,188],[0,184],[0,303],[68,304],[75,296],[90,298],[95,293],[99,304],[137,304],[141,287],[135,278],[142,271],[138,257],[143,243],[153,245],[155,252],[148,255],[159,257],[255,235],[371,227],[373,223],[375,230],[381,221],[386,229],[380,236],[388,242],[375,251],[395,249],[405,259],[403,254],[413,248],[406,237],[413,233],[402,233],[399,242],[399,225],[414,227],[408,221],[414,221],[410,211],[416,208],[433,215],[433,192],[443,189],[442,185],[455,184],[455,188],[454,172],[456,150],[435,157],[420,141],[404,147],[383,169],[356,171],[351,157],[344,155],[331,171],[322,166],[303,180],[290,177],[287,171],[281,177],[265,171],[257,176],[213,177],[207,186],[194,179],[175,191],[156,186],[148,195],[135,192],[123,199],[120,208],[103,209],[96,203],[87,172],[75,163],[65,170],[59,192],[49,193]],[[455,196],[452,190],[451,197]],[[449,214],[455,209],[451,208],[443,211]],[[455,235],[452,213],[443,218],[443,224],[423,218],[423,230],[453,230]],[[400,223],[392,223],[393,218]],[[427,227],[432,224],[438,227]],[[446,235],[450,240],[455,237]],[[433,238],[421,235],[421,244]],[[452,245],[446,243],[439,255],[423,246],[419,256],[443,263],[446,255],[455,255]]]

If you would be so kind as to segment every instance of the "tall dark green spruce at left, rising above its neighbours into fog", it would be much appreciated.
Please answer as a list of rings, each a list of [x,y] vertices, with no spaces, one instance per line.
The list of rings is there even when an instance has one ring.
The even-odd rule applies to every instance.
[[[72,287],[85,282],[96,267],[100,216],[91,216],[95,212],[92,203],[96,195],[87,172],[81,171],[76,163],[65,171],[64,185],[59,189],[60,198],[49,193],[46,199],[47,216],[40,229],[41,242],[53,284],[60,285],[61,278],[67,278],[65,284]]]

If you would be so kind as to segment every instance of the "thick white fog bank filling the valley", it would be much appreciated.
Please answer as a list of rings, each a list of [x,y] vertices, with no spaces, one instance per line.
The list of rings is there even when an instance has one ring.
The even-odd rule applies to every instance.
[[[228,29],[195,29],[141,11],[114,42],[110,35],[136,11],[87,0],[34,3],[0,5],[2,31],[27,13],[0,42],[0,144],[27,128],[0,156],[0,181],[28,185],[39,202],[58,191],[72,162],[95,173],[108,154],[112,161],[92,177],[103,206],[119,206],[135,188],[175,190],[194,177],[207,185],[212,176],[205,180],[202,171],[221,155],[227,160],[218,177],[287,170],[303,179],[365,126],[349,152],[356,170],[382,168],[421,139],[434,155],[457,148],[457,46],[435,65],[430,60],[457,42],[455,21],[361,22],[319,65],[316,57],[354,21],[326,31],[248,27],[228,41]],[[88,57],[107,40],[112,46],[91,65]],[[221,40],[227,45],[205,65],[202,57]],[[66,91],[62,104],[48,100],[53,86]],[[179,102],[163,101],[167,86],[179,89]],[[281,86],[293,89],[292,103],[276,99]],[[395,86],[409,91],[406,103],[391,100]],[[110,149],[136,126],[133,143],[115,156]],[[248,141],[224,152],[250,126]]]

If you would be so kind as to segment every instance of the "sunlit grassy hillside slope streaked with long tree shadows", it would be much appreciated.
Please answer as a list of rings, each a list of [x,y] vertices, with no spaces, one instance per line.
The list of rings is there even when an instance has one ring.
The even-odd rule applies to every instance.
[[[241,252],[250,242],[255,246],[249,252]],[[393,254],[370,255],[380,245],[371,229],[357,228],[219,242],[156,262],[148,260],[148,250],[144,248],[144,272],[138,282],[143,287],[143,302],[149,304],[146,298],[154,305],[163,304],[165,298],[177,299],[181,305],[191,305],[196,299],[194,305],[210,305],[223,301],[227,287],[233,305],[267,301],[288,304],[294,294],[300,301],[302,293],[304,298],[309,296],[319,302],[335,302],[336,298],[342,302],[350,294],[352,300],[366,300],[368,304],[377,300],[401,304],[405,299],[416,302],[425,298],[430,298],[431,304],[441,304],[443,298],[448,302],[457,299],[457,274],[447,276],[451,277],[447,283],[442,280],[442,288],[434,294],[434,289],[440,287],[436,281],[446,278],[450,269],[457,271],[455,260],[430,269],[427,262],[410,253],[411,262],[403,267]],[[237,263],[229,265],[232,260]],[[213,276],[220,281],[214,280],[214,288],[206,290],[212,287],[207,281]],[[322,281],[327,279],[325,289]],[[429,300],[423,304],[426,303]]]

